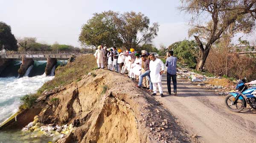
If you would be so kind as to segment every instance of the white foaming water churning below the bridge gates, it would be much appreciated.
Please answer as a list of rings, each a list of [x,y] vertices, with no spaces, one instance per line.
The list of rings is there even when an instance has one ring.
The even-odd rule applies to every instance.
[[[36,91],[54,76],[0,78],[0,123],[18,111],[20,97]]]

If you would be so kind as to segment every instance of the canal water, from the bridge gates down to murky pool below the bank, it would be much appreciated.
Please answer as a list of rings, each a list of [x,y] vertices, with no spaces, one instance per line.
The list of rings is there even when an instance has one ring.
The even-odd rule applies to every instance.
[[[22,78],[18,78],[21,61],[12,61],[0,74],[0,124],[18,111],[20,97],[36,91],[47,81],[54,78],[55,68],[67,61],[57,61],[50,76],[44,73],[47,61],[34,61]],[[21,130],[0,131],[0,143],[48,143],[53,137],[47,137],[35,132],[27,133]]]

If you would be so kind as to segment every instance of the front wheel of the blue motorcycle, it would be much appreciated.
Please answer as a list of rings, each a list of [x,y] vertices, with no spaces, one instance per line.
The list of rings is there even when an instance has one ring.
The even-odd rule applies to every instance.
[[[232,112],[240,112],[244,109],[244,100],[238,99],[236,104],[233,104],[235,97],[231,94],[227,95],[225,98],[225,105],[227,109]]]

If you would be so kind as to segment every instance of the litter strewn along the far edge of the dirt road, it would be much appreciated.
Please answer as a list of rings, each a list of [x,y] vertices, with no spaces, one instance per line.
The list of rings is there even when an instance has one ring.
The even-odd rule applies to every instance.
[[[178,67],[177,79],[189,80],[192,84],[214,90],[218,95],[227,95],[234,92],[235,84],[238,81],[230,81],[222,77],[203,76],[198,73],[191,72],[189,68]]]

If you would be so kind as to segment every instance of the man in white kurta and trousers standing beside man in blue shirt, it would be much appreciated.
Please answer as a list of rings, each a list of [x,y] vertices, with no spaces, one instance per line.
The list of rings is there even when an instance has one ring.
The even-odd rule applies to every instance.
[[[164,71],[165,65],[163,64],[163,61],[160,59],[155,58],[154,54],[149,55],[150,62],[149,62],[149,70],[150,70],[150,79],[153,84],[153,91],[154,93],[152,94],[157,95],[157,85],[158,85],[158,90],[163,97],[163,88],[162,88],[162,74]]]

